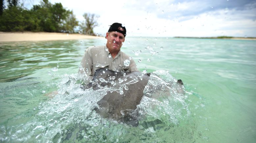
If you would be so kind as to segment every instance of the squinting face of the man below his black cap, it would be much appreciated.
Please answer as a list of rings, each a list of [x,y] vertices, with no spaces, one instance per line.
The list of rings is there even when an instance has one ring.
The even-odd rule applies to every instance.
[[[124,42],[124,35],[122,33],[115,31],[107,32],[106,39],[106,45],[110,53],[120,51]]]

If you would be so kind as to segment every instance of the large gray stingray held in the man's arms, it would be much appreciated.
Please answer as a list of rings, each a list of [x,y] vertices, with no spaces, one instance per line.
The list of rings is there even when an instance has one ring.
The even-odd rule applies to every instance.
[[[149,76],[150,73],[125,73],[98,69],[94,73],[92,82],[83,88],[98,90],[108,87],[112,89],[97,102],[99,107],[94,110],[105,118],[138,126],[138,111],[136,108],[141,102],[143,90],[148,83]],[[183,86],[181,80],[178,80],[177,83]]]

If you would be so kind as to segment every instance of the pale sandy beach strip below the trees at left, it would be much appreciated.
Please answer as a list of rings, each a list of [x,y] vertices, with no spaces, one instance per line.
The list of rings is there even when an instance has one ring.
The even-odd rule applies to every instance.
[[[49,32],[0,32],[0,42],[14,41],[48,41],[104,38],[78,33],[49,33]]]

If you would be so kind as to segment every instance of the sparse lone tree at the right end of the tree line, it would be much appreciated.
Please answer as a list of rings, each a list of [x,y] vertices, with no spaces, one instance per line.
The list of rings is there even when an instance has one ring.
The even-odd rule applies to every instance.
[[[90,13],[84,13],[85,21],[83,21],[80,24],[81,30],[84,34],[87,35],[95,35],[93,32],[93,28],[98,26],[97,19],[99,18],[99,15],[90,14]]]

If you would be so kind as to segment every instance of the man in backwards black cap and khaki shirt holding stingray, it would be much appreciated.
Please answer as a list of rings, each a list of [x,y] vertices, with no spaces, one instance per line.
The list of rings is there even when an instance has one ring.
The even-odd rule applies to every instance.
[[[89,47],[81,61],[79,73],[87,75],[87,82],[93,78],[99,68],[106,68],[116,72],[138,71],[134,60],[120,51],[125,40],[126,29],[120,23],[113,23],[106,33],[107,44]]]

